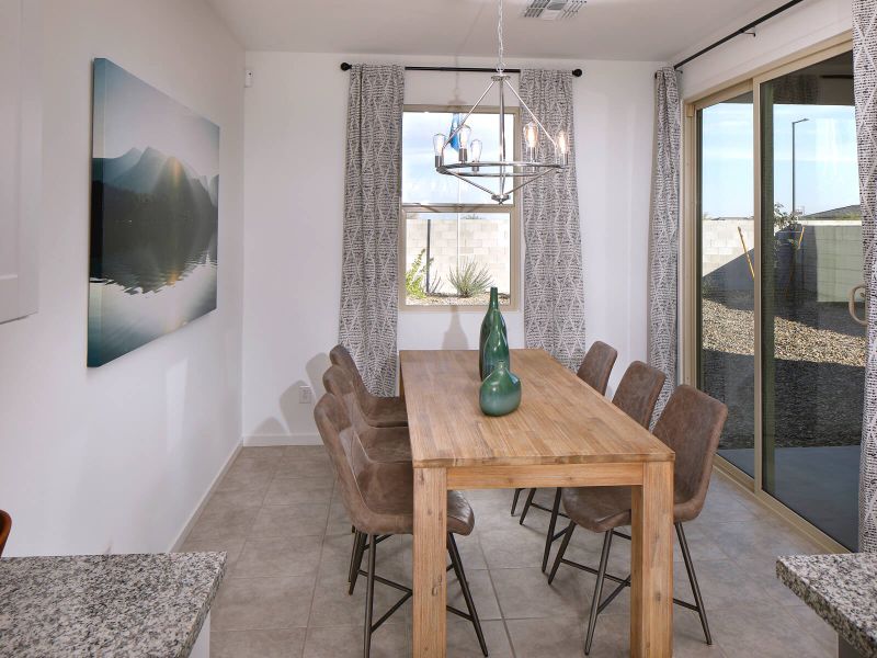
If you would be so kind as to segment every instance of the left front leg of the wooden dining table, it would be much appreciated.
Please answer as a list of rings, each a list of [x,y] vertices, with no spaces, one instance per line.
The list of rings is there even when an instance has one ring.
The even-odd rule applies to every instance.
[[[414,468],[414,658],[445,658],[447,472]]]

